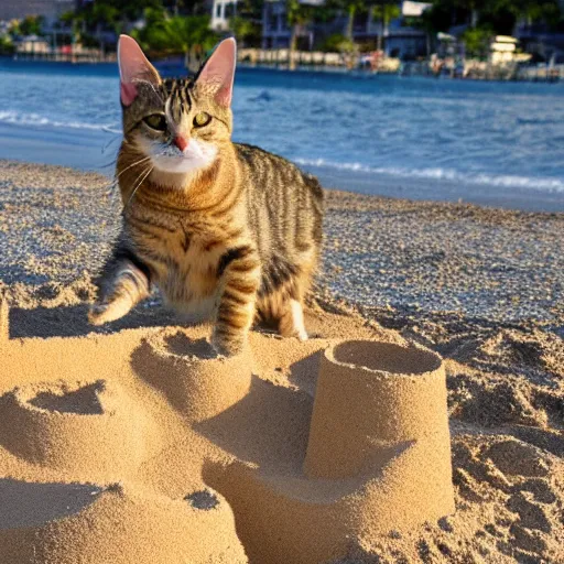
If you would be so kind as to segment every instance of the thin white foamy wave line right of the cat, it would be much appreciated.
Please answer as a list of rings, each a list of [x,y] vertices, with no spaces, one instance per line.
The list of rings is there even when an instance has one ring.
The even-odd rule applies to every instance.
[[[507,188],[528,188],[542,192],[564,192],[564,181],[560,178],[535,178],[529,176],[498,175],[486,173],[464,173],[452,169],[406,169],[399,166],[366,166],[360,163],[335,163],[325,159],[294,159],[303,166],[323,166],[340,171],[364,172],[371,174],[387,174],[405,178],[425,178],[464,184],[479,184],[485,186],[498,186]]]

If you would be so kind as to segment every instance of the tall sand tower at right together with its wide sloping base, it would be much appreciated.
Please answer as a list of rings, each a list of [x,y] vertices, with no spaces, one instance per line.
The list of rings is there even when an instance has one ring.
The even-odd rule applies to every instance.
[[[303,465],[236,465],[226,496],[250,562],[312,564],[351,540],[454,511],[445,372],[415,345],[343,341],[322,351]]]

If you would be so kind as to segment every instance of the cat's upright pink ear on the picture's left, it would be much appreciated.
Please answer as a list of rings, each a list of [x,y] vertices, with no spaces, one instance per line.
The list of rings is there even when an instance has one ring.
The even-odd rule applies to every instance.
[[[137,98],[140,82],[161,84],[156,68],[149,63],[137,41],[129,35],[120,35],[118,43],[120,96],[123,106],[130,106]]]

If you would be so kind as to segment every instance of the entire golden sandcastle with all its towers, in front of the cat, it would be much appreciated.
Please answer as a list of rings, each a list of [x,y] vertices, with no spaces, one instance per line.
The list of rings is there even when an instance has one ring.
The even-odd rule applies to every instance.
[[[329,563],[454,511],[427,349],[252,334],[225,359],[207,327],[10,339],[0,317],[3,564]]]

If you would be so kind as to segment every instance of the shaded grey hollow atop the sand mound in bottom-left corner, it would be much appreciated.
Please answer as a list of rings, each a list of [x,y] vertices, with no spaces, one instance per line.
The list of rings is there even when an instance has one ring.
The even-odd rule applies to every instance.
[[[0,479],[0,529],[37,527],[78,513],[102,488],[91,484],[31,484]]]

